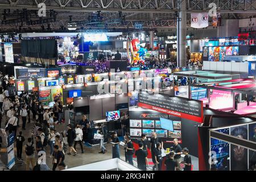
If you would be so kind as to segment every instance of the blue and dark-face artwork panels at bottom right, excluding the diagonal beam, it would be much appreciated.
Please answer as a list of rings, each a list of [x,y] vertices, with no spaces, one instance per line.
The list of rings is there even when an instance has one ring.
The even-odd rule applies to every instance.
[[[216,131],[256,142],[255,122]],[[215,167],[218,171],[247,171],[256,165],[256,151],[214,138],[210,138],[210,156],[210,167]]]

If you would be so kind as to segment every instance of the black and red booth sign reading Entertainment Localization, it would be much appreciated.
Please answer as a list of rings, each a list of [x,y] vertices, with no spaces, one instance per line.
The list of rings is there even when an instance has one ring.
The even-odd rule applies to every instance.
[[[176,117],[203,122],[203,102],[163,94],[139,93],[139,107],[174,115]]]

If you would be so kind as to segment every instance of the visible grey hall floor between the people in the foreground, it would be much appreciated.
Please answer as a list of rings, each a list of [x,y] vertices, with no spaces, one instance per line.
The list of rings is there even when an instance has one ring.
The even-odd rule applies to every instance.
[[[2,122],[2,128],[5,127],[5,126],[3,126],[4,123],[5,122]],[[21,124],[21,121],[20,121],[20,124]],[[28,123],[26,126],[26,130],[23,130],[23,136],[25,137],[26,141],[27,141],[27,138],[31,136],[30,133],[31,133],[33,126],[34,126],[33,122]],[[21,127],[18,128],[18,132],[20,130],[21,130]],[[56,126],[56,131],[58,131],[59,133],[64,130],[65,130],[64,124]],[[0,131],[0,135],[2,136],[1,131]],[[26,144],[26,142],[24,142],[24,145],[25,144]],[[93,147],[84,146],[85,153],[81,154],[81,149],[78,144],[77,145],[77,151],[78,151],[77,156],[65,155],[65,164],[67,164],[68,168],[72,168],[72,167],[82,166],[85,164],[100,162],[102,160],[112,159],[112,145],[106,144],[105,146],[106,146],[106,149],[108,150],[108,152],[106,152],[106,154],[98,154],[98,152],[100,151],[100,146],[93,146]],[[47,165],[49,166],[49,168],[52,168],[52,159],[49,158],[49,146],[46,147],[46,154],[47,154]],[[122,146],[120,146],[120,155],[121,155],[121,159],[124,160],[125,157],[124,157],[124,150],[123,150]],[[15,148],[15,156],[16,156],[16,148]],[[23,148],[22,157],[23,157],[23,159],[26,159],[26,154],[24,152],[24,148]],[[0,152],[0,160],[1,160],[0,161],[0,168],[1,168],[1,166],[3,167],[3,165],[7,163],[6,142],[5,142],[4,138],[3,138],[2,149]],[[193,164],[193,171],[197,171],[198,170],[198,159],[193,156],[192,156],[192,164]],[[137,166],[137,163],[135,161],[134,161],[134,166]],[[24,170],[26,170],[26,164],[16,160],[16,164],[11,170],[24,171]]]

